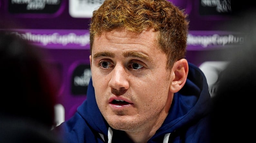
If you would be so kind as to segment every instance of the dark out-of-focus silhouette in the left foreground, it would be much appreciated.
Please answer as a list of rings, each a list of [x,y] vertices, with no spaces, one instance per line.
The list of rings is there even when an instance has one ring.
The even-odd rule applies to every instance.
[[[59,143],[52,131],[57,88],[40,47],[0,31],[0,142]]]

